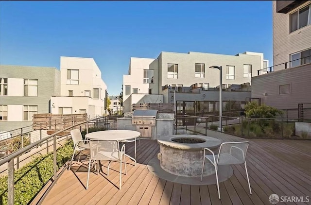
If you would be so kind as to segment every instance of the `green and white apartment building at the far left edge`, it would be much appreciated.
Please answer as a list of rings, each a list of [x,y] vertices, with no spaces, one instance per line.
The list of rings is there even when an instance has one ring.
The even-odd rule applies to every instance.
[[[0,131],[29,126],[34,114],[49,113],[59,80],[57,68],[0,65]]]

